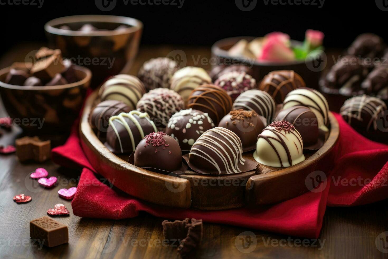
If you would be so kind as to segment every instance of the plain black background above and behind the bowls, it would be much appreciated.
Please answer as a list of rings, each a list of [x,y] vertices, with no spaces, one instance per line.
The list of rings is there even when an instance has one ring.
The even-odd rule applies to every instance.
[[[264,0],[256,0],[256,7],[248,12],[237,8],[234,0],[185,0],[180,9],[178,5],[132,5],[130,2],[125,5],[123,0],[116,0],[116,7],[109,12],[99,10],[94,0],[45,0],[42,8],[10,5],[8,1],[14,0],[0,0],[0,44],[3,45],[0,55],[20,42],[44,42],[43,25],[47,21],[77,14],[114,14],[140,19],[144,23],[142,44],[147,45],[210,46],[225,37],[262,36],[271,31],[282,31],[295,40],[303,40],[309,28],[325,33],[326,47],[347,47],[364,32],[376,33],[388,41],[383,29],[388,12],[380,10],[374,0],[326,0],[322,8],[318,7],[318,1],[318,5],[265,5]]]

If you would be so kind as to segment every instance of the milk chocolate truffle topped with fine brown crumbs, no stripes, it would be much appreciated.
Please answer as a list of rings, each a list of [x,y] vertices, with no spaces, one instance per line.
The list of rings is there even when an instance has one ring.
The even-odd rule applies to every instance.
[[[225,115],[218,127],[229,129],[241,140],[242,151],[247,152],[255,149],[259,134],[267,125],[263,116],[255,111],[233,110]]]

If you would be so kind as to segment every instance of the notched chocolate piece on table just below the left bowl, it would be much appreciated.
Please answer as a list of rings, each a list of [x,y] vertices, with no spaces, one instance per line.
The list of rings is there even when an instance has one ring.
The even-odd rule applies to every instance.
[[[44,162],[50,158],[51,141],[41,141],[39,137],[22,137],[16,139],[16,156],[19,161],[35,160]]]

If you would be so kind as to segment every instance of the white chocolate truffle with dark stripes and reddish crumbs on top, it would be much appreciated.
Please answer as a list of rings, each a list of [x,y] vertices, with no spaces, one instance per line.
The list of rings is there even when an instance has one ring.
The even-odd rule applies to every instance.
[[[302,137],[291,123],[272,122],[259,135],[253,158],[272,167],[296,165],[305,160]]]

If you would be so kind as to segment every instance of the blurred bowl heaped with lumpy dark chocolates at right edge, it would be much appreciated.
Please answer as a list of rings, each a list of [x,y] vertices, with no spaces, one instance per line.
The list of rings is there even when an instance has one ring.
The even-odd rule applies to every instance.
[[[319,81],[320,90],[332,111],[344,102],[366,94],[388,104],[388,48],[373,33],[359,35]]]

